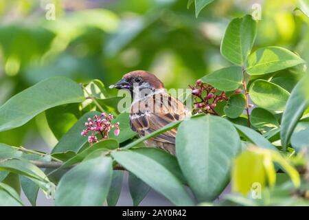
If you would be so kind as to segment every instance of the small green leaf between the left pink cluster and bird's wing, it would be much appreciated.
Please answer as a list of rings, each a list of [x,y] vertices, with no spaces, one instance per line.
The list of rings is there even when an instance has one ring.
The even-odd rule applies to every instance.
[[[130,127],[130,121],[129,121],[129,113],[121,113],[119,114],[113,121],[112,124],[116,124],[119,122],[119,129],[120,133],[118,136],[116,136],[113,132],[111,131],[109,137],[117,140],[119,143],[125,142],[126,140],[129,140],[130,138],[134,137],[137,135],[135,131],[132,131]]]

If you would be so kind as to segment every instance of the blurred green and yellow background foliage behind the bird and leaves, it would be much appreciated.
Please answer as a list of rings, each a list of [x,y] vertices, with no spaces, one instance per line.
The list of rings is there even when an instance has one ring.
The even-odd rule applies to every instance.
[[[196,19],[187,0],[0,0],[0,105],[59,75],[80,83],[98,78],[111,85],[126,72],[146,69],[165,87],[186,88],[231,65],[220,56],[220,41],[229,21],[251,14],[253,3],[262,7],[253,50],[277,45],[308,61],[309,20],[295,10],[295,2],[216,0]],[[48,19],[51,3],[55,20]],[[0,142],[49,152],[56,138],[43,113],[1,132]],[[52,203],[39,195],[38,205]],[[132,204],[126,185],[119,204]],[[170,203],[150,192],[143,204]]]

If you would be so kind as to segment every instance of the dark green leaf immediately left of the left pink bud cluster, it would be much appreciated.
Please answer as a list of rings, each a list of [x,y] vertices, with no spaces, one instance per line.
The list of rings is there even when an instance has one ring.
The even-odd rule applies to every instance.
[[[53,148],[52,153],[62,153],[66,151],[73,151],[78,153],[80,148],[87,144],[87,136],[82,136],[80,133],[86,129],[84,123],[88,118],[93,118],[93,115],[100,115],[98,111],[91,111],[82,115],[82,117],[72,126],[69,131],[61,137],[58,144]]]

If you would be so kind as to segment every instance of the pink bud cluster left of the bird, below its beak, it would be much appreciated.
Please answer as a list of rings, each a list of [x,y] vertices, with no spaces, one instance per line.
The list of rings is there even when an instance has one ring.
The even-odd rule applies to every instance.
[[[99,142],[98,137],[96,136],[97,133],[101,135],[101,140],[108,139],[108,133],[111,131],[112,128],[115,127],[114,134],[116,136],[119,135],[119,122],[116,124],[111,124],[111,120],[113,120],[114,115],[106,113],[102,113],[100,116],[94,115],[93,119],[88,118],[88,122],[84,123],[84,126],[87,126],[86,130],[83,130],[81,135],[88,136],[88,142],[90,144]]]

